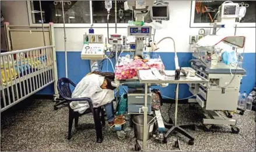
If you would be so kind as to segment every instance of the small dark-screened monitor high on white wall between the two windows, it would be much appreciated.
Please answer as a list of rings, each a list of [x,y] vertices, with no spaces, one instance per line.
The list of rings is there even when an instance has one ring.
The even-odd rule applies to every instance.
[[[156,2],[150,10],[152,20],[169,20],[169,2]]]

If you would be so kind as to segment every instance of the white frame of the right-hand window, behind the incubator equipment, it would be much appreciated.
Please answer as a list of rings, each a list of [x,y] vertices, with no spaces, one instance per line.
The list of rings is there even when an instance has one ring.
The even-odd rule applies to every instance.
[[[194,23],[194,17],[195,17],[195,1],[191,1],[190,27],[191,28],[211,27],[210,23]],[[239,23],[237,24],[237,27],[256,27],[255,24],[256,23]]]

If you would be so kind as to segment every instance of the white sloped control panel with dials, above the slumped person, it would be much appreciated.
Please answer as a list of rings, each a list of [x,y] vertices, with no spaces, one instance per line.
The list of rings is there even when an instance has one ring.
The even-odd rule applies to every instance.
[[[103,59],[104,44],[84,44],[81,59]]]

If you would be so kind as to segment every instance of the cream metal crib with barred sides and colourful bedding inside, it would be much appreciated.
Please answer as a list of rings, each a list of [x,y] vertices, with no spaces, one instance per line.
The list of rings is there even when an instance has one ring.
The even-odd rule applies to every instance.
[[[36,27],[5,23],[5,36],[8,52],[0,55],[1,112],[51,83],[58,94],[53,24]]]

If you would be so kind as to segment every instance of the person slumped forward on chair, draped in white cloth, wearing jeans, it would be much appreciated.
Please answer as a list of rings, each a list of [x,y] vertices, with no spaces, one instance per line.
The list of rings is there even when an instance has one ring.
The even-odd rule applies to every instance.
[[[114,73],[111,72],[91,72],[88,73],[82,80],[76,85],[75,90],[72,93],[72,98],[91,98],[94,108],[104,106],[108,125],[122,125],[125,120],[122,116],[114,117],[113,100],[114,89],[111,82],[114,81]],[[70,107],[74,111],[83,113],[89,105],[85,101],[73,101]]]

